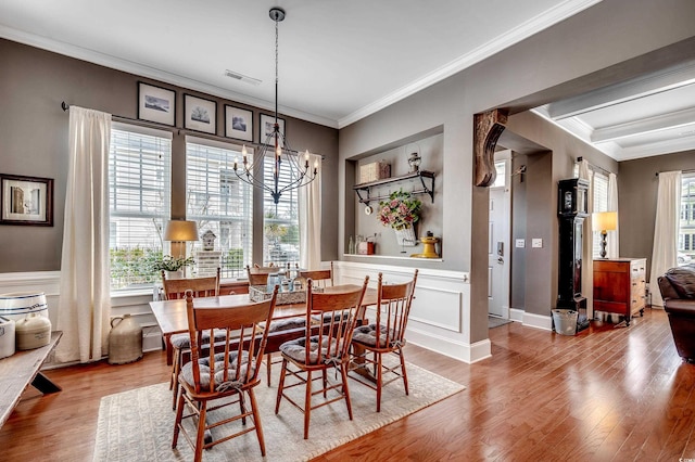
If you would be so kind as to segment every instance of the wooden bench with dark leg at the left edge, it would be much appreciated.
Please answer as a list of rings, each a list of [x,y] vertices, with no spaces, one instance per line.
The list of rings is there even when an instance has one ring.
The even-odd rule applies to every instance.
[[[0,359],[0,427],[10,419],[29,384],[43,395],[61,390],[61,387],[39,372],[39,369],[62,335],[60,331],[51,332],[51,342],[48,345],[17,351]]]

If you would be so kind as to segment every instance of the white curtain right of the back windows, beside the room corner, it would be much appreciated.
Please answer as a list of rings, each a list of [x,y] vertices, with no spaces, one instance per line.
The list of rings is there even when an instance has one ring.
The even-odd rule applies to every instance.
[[[319,166],[317,178],[300,188],[300,267],[316,270],[321,264],[321,156],[309,154],[309,166]]]

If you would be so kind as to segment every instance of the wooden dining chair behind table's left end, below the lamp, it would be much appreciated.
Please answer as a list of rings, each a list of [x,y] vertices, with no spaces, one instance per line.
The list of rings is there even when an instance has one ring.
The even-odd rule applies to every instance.
[[[191,291],[195,298],[216,297],[219,295],[219,274],[220,270],[217,268],[217,274],[214,277],[166,279],[165,272],[162,271],[164,297],[167,300],[181,299],[186,297],[186,291]],[[169,343],[173,350],[169,389],[173,392],[172,408],[175,409],[178,395],[178,374],[184,361],[184,355],[190,350],[191,339],[188,334],[174,334],[169,337]]]

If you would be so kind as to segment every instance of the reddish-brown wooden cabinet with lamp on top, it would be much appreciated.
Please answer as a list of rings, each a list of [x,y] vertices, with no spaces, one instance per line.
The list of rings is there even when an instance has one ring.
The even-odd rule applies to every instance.
[[[644,315],[646,258],[594,260],[594,310],[630,319]]]

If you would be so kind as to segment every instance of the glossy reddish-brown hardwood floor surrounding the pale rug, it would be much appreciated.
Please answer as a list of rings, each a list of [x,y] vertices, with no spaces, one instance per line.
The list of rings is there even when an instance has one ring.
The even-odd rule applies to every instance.
[[[594,323],[560,336],[511,323],[490,338],[493,357],[476,364],[408,345],[408,361],[467,389],[317,460],[695,458],[695,364],[675,354],[662,310],[646,309],[630,328]],[[63,390],[25,393],[0,429],[0,460],[91,460],[100,398],[165,382],[168,368],[163,352],[150,352],[46,375]]]

